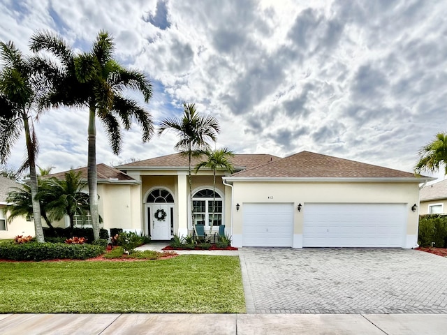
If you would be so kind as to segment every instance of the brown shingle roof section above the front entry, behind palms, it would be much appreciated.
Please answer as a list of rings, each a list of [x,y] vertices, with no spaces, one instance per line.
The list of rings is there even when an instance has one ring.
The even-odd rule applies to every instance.
[[[271,161],[277,161],[280,157],[269,154],[235,154],[234,157],[229,158],[235,168],[254,168],[255,166],[265,164]],[[195,166],[201,161],[201,158],[192,158],[191,165]],[[120,170],[127,168],[187,168],[188,156],[182,154],[171,154],[167,156],[149,158],[145,161],[138,161],[129,164],[120,165]]]

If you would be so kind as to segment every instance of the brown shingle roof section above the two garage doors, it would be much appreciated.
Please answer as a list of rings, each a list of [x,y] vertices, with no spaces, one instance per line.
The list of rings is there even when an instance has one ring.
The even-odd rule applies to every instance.
[[[237,172],[232,177],[290,178],[410,178],[414,174],[348,159],[302,151],[256,168]]]

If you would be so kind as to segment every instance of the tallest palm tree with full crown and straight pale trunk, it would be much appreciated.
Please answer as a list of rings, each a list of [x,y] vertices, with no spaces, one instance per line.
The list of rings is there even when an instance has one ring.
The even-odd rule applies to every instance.
[[[135,120],[142,128],[142,141],[147,142],[154,133],[152,117],[136,101],[124,96],[124,91],[140,91],[147,103],[152,97],[152,85],[138,70],[126,70],[113,59],[113,38],[100,31],[90,52],[75,55],[59,36],[40,32],[31,37],[31,50],[52,52],[63,68],[50,77],[53,89],[47,94],[44,107],[88,107],[88,159],[87,180],[91,224],[94,239],[99,239],[99,215],[96,171],[96,117],[102,121],[114,154],[122,147],[121,125],[129,130]]]

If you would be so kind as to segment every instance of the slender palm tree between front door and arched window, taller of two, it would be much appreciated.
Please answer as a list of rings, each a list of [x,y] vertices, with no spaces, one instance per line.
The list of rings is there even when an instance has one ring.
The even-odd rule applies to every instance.
[[[188,156],[189,202],[191,204],[191,220],[193,220],[191,158],[198,156],[197,151],[200,149],[209,149],[207,140],[216,141],[216,136],[220,132],[219,121],[211,115],[200,116],[193,103],[183,103],[182,118],[169,117],[161,121],[159,135],[168,130],[173,131],[179,137],[179,142],[175,144],[174,148]]]

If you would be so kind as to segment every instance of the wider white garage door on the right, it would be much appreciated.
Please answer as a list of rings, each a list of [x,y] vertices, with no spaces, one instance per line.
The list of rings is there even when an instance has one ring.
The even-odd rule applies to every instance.
[[[302,246],[404,246],[405,204],[306,203],[303,210]]]

